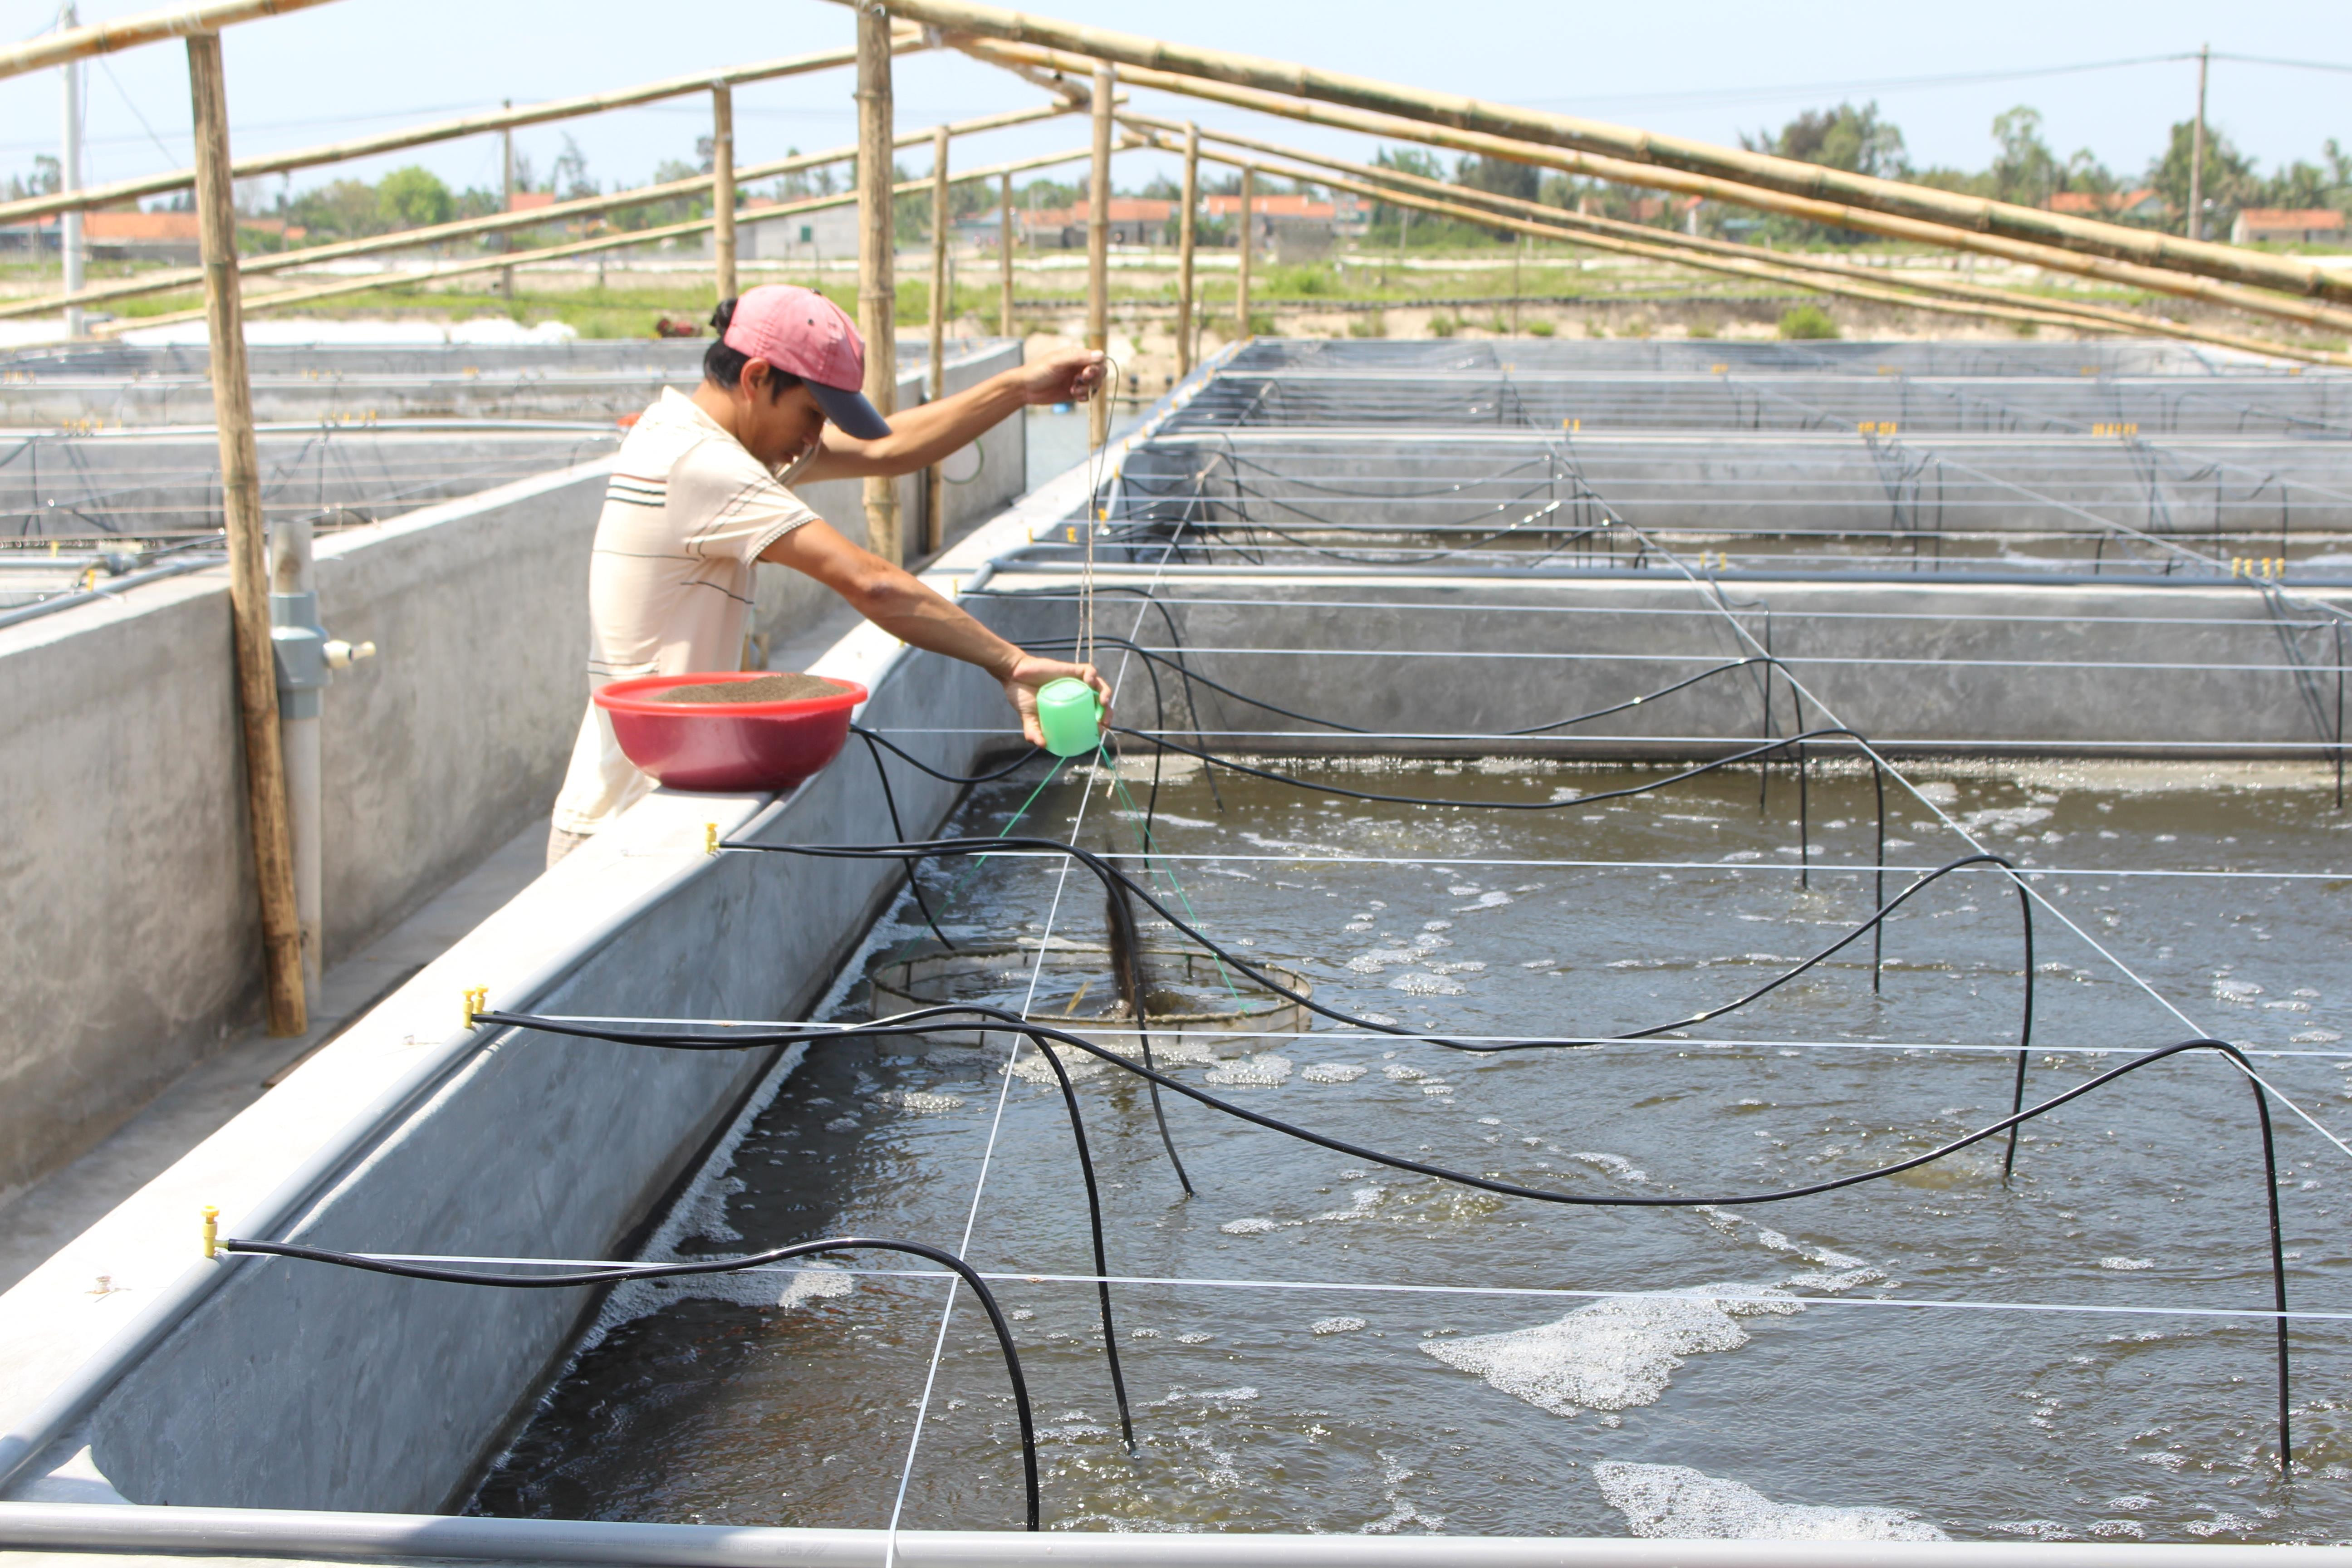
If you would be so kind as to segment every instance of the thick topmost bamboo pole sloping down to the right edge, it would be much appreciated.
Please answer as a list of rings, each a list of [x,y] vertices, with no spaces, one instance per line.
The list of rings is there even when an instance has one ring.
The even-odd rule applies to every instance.
[[[1924,219],[1980,233],[2032,240],[2093,256],[2114,256],[2147,266],[2178,268],[2204,277],[2223,277],[2258,289],[2281,289],[2312,299],[2352,301],[2352,280],[2331,277],[2324,268],[2288,256],[2267,256],[2230,244],[2180,240],[2122,223],[2077,219],[2039,207],[2013,202],[1990,202],[1957,190],[1933,186],[1910,186],[1870,174],[1851,174],[1825,165],[1809,165],[1795,158],[1769,153],[1745,153],[1689,136],[1665,136],[1602,120],[1578,120],[1536,108],[1489,103],[1461,94],[1423,92],[1374,78],[1338,71],[1315,71],[1291,61],[1235,54],[1230,49],[1200,49],[1174,45],[1136,33],[1089,28],[1009,12],[978,0],[884,0],[898,16],[922,21],[948,33],[978,33],[1011,42],[1070,49],[1117,66],[1148,66],[1164,73],[1204,78],[1214,82],[1237,82],[1263,92],[1279,92],[1296,99],[1322,99],[1371,108],[1406,120],[1449,125],[1468,132],[1486,132],[1517,141],[1602,153],[1642,165],[1710,174],[1717,179],[1762,186],[1788,195],[1809,195],[1844,202],[1867,212]]]

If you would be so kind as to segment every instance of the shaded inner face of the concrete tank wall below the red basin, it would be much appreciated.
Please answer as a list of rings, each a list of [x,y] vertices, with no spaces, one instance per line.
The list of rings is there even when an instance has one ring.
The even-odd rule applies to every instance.
[[[884,729],[1002,729],[981,672],[901,661],[866,710]],[[981,736],[927,745],[962,769]],[[913,832],[953,790],[894,776]],[[708,799],[708,797],[701,797]],[[696,797],[656,797],[691,818]],[[720,799],[713,816],[739,811]],[[637,813],[630,813],[635,818]],[[699,849],[699,832],[682,820]],[[616,830],[619,832],[619,830]],[[764,842],[875,842],[889,818],[873,764],[844,752],[790,797]],[[527,898],[593,886],[590,844]],[[640,846],[642,853],[642,846]],[[858,945],[896,872],[854,860],[734,853],[583,952],[543,997],[553,1013],[797,1018]],[[555,919],[562,919],[555,914]],[[746,947],[743,933],[760,933]],[[746,952],[760,961],[741,961]],[[329,1248],[612,1255],[769,1063],[508,1037],[393,1128],[287,1237]],[[588,1291],[473,1291],[282,1260],[238,1274],[106,1399],[82,1441],[136,1502],[437,1509],[468,1481],[567,1347]],[[332,1396],[320,1396],[334,1389]]]

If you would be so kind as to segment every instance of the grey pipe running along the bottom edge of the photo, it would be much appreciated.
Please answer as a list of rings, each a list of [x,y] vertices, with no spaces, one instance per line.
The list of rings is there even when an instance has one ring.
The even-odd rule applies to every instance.
[[[278,1509],[0,1502],[0,1547],[644,1568],[2345,1568],[2345,1547],[2136,1542],[1604,1540],[1465,1535],[1120,1535],[1108,1530],[771,1530]]]

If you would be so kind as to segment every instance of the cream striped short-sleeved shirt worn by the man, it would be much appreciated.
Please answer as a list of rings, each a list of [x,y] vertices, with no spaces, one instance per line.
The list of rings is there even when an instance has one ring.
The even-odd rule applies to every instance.
[[[614,456],[588,557],[588,686],[630,675],[743,668],[760,552],[816,520],[786,489],[816,456],[771,470],[677,388],[663,388]],[[600,832],[654,788],[588,703],[555,827]]]

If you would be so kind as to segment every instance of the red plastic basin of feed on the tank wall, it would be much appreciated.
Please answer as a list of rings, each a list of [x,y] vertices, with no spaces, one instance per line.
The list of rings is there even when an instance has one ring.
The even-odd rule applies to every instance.
[[[628,759],[673,790],[750,795],[790,790],[818,773],[849,741],[849,710],[866,686],[788,703],[666,703],[670,686],[760,679],[767,670],[722,675],[635,675],[595,693]],[[826,679],[833,679],[830,675]]]

